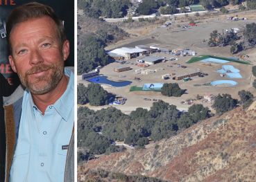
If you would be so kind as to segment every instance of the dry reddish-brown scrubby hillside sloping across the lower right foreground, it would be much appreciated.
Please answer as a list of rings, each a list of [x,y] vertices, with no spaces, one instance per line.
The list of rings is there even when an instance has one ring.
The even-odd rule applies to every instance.
[[[247,111],[237,108],[198,122],[146,149],[114,153],[82,163],[78,165],[78,180],[96,181],[97,171],[108,171],[164,181],[255,181],[255,105],[256,102]],[[94,177],[89,175],[92,173]],[[113,180],[108,175],[101,178],[105,178],[102,181],[130,181],[127,177]]]

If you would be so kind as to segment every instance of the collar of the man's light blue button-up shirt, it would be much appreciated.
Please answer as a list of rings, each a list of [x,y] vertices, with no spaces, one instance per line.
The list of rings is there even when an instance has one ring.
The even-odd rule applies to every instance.
[[[70,112],[74,107],[74,73],[72,73],[72,71],[70,71],[69,69],[65,68],[65,75],[69,77],[69,83],[67,84],[66,91],[61,95],[61,97],[53,105],[50,105],[48,107],[53,106],[53,108],[56,109],[56,111],[60,114],[60,116],[65,121],[67,121],[69,118],[69,114],[71,114]],[[37,106],[33,102],[31,92],[28,91],[28,89],[26,89],[26,92],[28,92],[29,102],[31,102],[31,105],[35,109],[37,109]]]

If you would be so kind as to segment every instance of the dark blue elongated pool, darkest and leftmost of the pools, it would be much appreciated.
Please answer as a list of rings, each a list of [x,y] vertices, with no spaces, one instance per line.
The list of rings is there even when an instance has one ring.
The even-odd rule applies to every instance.
[[[98,76],[98,77],[94,77],[94,78],[89,78],[87,81],[93,82],[96,84],[109,84],[112,87],[125,87],[132,83],[130,81],[114,82],[112,80],[108,80],[108,77],[106,77],[106,76]]]

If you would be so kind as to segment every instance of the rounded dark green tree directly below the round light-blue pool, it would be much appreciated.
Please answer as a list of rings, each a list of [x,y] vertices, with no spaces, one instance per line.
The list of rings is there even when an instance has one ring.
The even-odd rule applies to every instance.
[[[216,109],[216,113],[222,114],[237,107],[238,100],[233,99],[230,94],[218,95],[214,99],[212,107]]]

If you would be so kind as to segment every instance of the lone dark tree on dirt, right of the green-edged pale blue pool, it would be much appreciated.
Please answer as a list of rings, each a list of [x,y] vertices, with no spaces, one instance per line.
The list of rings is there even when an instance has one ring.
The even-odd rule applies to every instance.
[[[185,90],[180,89],[177,83],[165,83],[162,87],[161,93],[162,95],[167,95],[169,97],[180,97],[183,93],[185,93]]]

